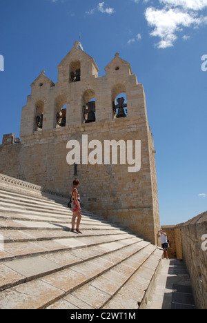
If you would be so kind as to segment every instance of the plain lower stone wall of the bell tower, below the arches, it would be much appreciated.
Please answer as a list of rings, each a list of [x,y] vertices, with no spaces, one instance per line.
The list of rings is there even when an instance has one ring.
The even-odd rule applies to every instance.
[[[66,145],[70,139],[81,142],[82,133],[88,134],[88,141],[99,138],[103,142],[111,137],[117,141],[141,139],[145,136],[147,138],[147,127],[139,119],[122,119],[112,121],[112,126],[108,123],[85,124],[70,130],[36,133],[23,138],[20,144],[0,146],[0,171],[63,194],[69,193],[72,180],[77,177],[81,182],[79,191],[85,208],[155,243],[155,233],[159,230],[159,212],[153,205],[153,174],[149,167],[147,139],[141,140],[139,173],[128,173],[128,164],[80,164],[77,165],[77,175],[74,175],[74,167],[66,162]]]

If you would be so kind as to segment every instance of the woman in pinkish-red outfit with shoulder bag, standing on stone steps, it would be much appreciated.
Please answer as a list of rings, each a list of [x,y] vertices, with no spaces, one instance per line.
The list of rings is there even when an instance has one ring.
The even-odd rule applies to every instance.
[[[74,179],[72,190],[70,190],[70,195],[72,195],[72,203],[71,203],[72,229],[71,229],[71,232],[73,232],[73,233],[81,233],[81,231],[79,231],[79,226],[80,226],[80,222],[81,222],[81,204],[80,204],[80,195],[77,190],[79,184],[80,184],[79,180]],[[75,218],[76,217],[77,217],[77,225],[76,225],[76,229],[75,229]]]

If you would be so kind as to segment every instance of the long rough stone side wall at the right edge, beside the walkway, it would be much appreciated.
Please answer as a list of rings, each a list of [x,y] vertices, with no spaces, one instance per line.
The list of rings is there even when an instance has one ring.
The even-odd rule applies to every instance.
[[[207,212],[181,225],[181,240],[197,309],[207,309]]]

